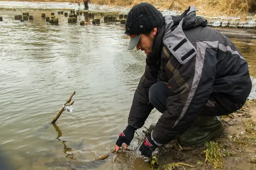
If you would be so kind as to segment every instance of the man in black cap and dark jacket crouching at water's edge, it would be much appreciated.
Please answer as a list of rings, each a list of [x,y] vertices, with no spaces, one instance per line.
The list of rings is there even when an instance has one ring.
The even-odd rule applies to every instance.
[[[125,34],[128,50],[147,55],[146,69],[135,91],[128,125],[116,151],[130,144],[153,108],[163,113],[139,150],[150,157],[178,137],[185,146],[198,146],[223,132],[219,115],[239,110],[252,88],[248,63],[234,44],[194,6],[181,16],[165,16],[149,3],[131,8]]]

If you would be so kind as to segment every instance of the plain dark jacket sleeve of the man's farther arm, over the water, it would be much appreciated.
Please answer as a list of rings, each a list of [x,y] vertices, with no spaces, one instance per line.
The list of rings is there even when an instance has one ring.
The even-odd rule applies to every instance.
[[[135,128],[141,128],[149,116],[149,113],[154,109],[149,102],[149,88],[157,82],[159,69],[158,62],[149,64],[148,58],[146,59],[145,72],[134,93],[128,117],[128,124]]]

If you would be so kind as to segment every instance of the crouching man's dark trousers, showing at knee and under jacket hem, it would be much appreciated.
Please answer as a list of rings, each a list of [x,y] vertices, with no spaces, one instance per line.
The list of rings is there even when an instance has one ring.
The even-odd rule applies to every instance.
[[[167,83],[163,81],[155,83],[149,89],[150,103],[161,113],[167,110],[166,99],[169,91]],[[234,97],[227,95],[211,95],[201,115],[227,115],[242,108],[246,100],[236,101]]]

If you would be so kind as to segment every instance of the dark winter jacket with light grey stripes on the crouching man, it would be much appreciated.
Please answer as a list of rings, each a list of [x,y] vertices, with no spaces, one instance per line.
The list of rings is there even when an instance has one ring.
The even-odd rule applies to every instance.
[[[181,16],[165,16],[153,52],[146,59],[145,73],[135,91],[128,124],[140,128],[154,108],[149,88],[168,83],[167,110],[159,118],[152,139],[158,145],[170,142],[188,129],[202,113],[211,95],[221,94],[242,103],[252,82],[248,63],[234,44],[196,17],[194,6]],[[163,31],[164,30],[164,31]]]

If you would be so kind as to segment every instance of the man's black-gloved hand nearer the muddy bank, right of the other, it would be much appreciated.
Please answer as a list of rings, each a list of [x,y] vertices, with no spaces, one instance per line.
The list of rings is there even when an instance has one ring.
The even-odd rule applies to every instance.
[[[151,140],[151,134],[148,135],[141,144],[140,151],[141,155],[144,155],[145,157],[150,157],[152,155],[152,152],[154,152],[157,149],[158,145],[155,144],[153,140]]]

